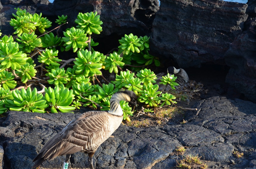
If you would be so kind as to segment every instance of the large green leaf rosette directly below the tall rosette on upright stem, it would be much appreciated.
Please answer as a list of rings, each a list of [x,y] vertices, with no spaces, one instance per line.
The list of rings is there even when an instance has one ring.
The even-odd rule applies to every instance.
[[[94,75],[101,75],[102,63],[100,63],[103,54],[99,52],[91,52],[86,50],[78,51],[76,61],[74,61],[74,68],[76,73],[83,73],[85,77],[93,77]]]

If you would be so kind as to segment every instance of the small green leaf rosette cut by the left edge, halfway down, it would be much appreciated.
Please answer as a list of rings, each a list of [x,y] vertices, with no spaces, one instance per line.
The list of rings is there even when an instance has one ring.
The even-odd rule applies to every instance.
[[[14,76],[12,72],[8,71],[2,71],[0,72],[0,86],[3,87],[3,89],[13,89],[17,85],[17,82],[14,79]]]

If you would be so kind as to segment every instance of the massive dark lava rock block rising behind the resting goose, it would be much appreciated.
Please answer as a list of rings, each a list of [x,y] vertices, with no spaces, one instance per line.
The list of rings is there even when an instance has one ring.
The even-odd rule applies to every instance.
[[[182,68],[225,65],[223,56],[242,32],[246,8],[225,1],[163,0],[152,25],[151,50]]]

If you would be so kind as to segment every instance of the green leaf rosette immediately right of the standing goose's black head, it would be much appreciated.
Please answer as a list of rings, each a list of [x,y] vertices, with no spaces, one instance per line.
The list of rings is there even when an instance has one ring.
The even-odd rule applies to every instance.
[[[157,84],[148,83],[147,86],[143,86],[141,95],[138,98],[138,101],[141,103],[148,104],[150,106],[157,107],[160,103],[160,99],[158,97],[158,94],[160,94],[160,91],[158,90]]]

